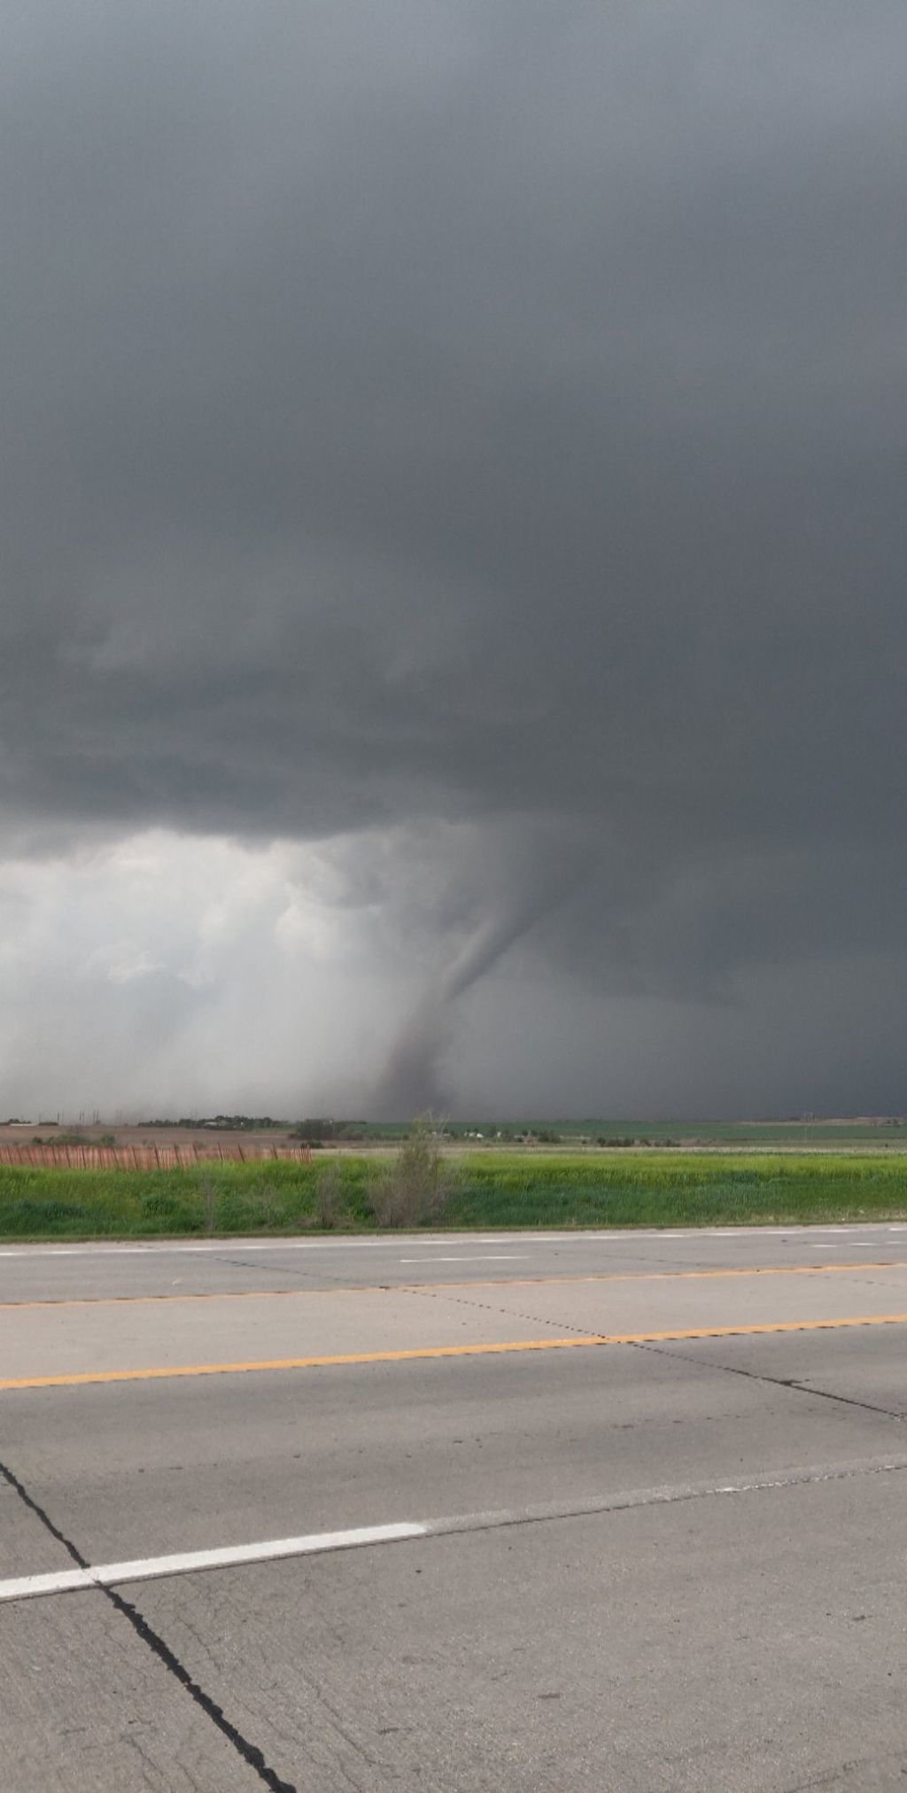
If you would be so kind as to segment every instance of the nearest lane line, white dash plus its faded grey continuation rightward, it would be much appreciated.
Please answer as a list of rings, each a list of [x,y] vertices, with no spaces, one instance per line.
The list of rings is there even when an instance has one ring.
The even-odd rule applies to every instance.
[[[176,1556],[140,1556],[134,1562],[16,1576],[0,1581],[0,1603],[36,1599],[41,1594],[72,1594],[79,1589],[115,1587],[127,1581],[151,1581],[160,1576],[195,1574],[203,1569],[237,1569],[246,1563],[278,1562],[287,1556],[315,1556],[326,1551],[346,1551],[367,1544],[403,1544],[416,1538],[439,1538],[462,1531],[495,1531],[502,1526],[527,1522],[592,1519],[604,1513],[622,1513],[638,1506],[669,1506],[676,1501],[699,1501],[715,1495],[726,1497],[735,1494],[762,1494],[773,1488],[803,1488],[812,1483],[848,1481],[859,1476],[884,1476],[903,1470],[907,1470],[907,1456],[860,1458],[850,1463],[810,1463],[807,1467],[740,1476],[735,1481],[669,1483],[656,1488],[590,1494],[581,1501],[545,1501],[534,1506],[457,1513],[455,1517],[396,1526],[357,1526],[351,1531],[312,1531],[301,1538],[269,1538],[260,1544],[231,1544],[226,1549],[181,1551]]]

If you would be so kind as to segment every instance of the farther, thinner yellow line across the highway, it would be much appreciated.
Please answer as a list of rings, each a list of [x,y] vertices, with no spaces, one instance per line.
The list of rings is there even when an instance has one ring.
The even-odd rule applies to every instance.
[[[419,1289],[529,1289],[592,1282],[703,1282],[721,1277],[835,1277],[857,1269],[907,1269],[907,1259],[860,1264],[753,1264],[733,1269],[613,1269],[584,1277],[470,1277],[445,1282],[351,1282],[335,1289],[201,1289],[194,1295],[61,1295],[0,1302],[0,1312],[22,1307],[140,1307],[160,1302],[287,1302],[312,1295],[410,1295]]]

